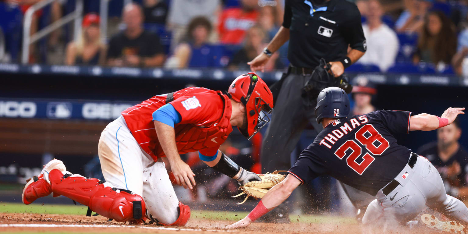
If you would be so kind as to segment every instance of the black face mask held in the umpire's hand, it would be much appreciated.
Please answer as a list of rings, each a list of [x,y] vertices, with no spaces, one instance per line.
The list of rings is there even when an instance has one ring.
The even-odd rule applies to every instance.
[[[324,88],[335,86],[343,88],[348,94],[351,93],[352,86],[348,78],[344,75],[335,77],[330,68],[331,65],[325,59],[320,59],[319,66],[315,67],[310,79],[302,88],[301,96],[306,108],[315,108],[317,96]]]

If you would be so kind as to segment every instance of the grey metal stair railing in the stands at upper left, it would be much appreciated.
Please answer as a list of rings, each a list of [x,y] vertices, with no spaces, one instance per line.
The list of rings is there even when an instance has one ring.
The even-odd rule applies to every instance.
[[[42,0],[38,3],[32,5],[28,8],[26,13],[24,14],[24,26],[23,26],[23,43],[22,43],[22,58],[21,61],[23,64],[27,64],[29,60],[29,45],[37,42],[41,38],[47,36],[52,31],[62,27],[63,25],[67,24],[74,20],[74,31],[73,37],[76,40],[80,33],[81,33],[81,20],[83,16],[83,0],[76,0],[75,10],[68,15],[60,18],[59,20],[53,22],[52,24],[48,25],[44,29],[39,30],[33,35],[29,35],[31,31],[31,22],[32,16],[38,10],[44,8],[45,6],[51,4],[55,0]],[[106,0],[102,0],[106,1]],[[107,18],[107,17],[106,17]]]

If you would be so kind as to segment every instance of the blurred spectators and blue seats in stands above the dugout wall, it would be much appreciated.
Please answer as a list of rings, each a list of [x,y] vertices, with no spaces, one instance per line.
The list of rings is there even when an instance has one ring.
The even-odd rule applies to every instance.
[[[0,61],[18,62],[23,15],[41,0],[0,0]],[[247,69],[278,31],[284,0],[111,0],[101,37],[99,1],[84,0],[82,33],[73,25],[29,47],[29,63]],[[468,74],[467,0],[356,0],[366,54],[348,71]],[[74,10],[55,0],[32,18],[30,35]],[[1,48],[0,48],[1,49]],[[287,44],[267,71],[289,64]]]

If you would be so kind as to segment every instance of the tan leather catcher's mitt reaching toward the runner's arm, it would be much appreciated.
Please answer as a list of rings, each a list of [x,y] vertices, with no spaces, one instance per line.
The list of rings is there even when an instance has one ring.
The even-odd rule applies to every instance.
[[[285,175],[281,175],[279,172],[286,171],[274,171],[273,173],[267,172],[266,174],[258,174],[258,176],[262,178],[262,181],[251,181],[241,185],[239,189],[242,190],[242,192],[234,197],[239,197],[242,194],[246,194],[247,197],[245,197],[244,201],[241,203],[237,203],[237,205],[243,204],[249,197],[262,198],[265,196],[271,187],[285,179]]]

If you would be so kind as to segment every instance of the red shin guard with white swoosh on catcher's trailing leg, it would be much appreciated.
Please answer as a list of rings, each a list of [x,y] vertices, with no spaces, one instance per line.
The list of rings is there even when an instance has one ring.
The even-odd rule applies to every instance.
[[[144,218],[145,202],[139,195],[113,190],[95,178],[68,175],[64,176],[58,169],[51,170],[49,179],[54,195],[73,199],[87,205],[92,211],[116,221]]]

